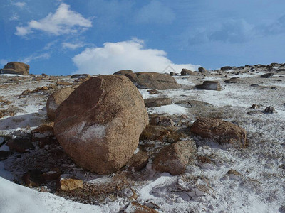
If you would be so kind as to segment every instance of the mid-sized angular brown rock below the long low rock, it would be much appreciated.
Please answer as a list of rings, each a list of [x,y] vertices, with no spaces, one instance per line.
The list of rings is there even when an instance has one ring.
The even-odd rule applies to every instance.
[[[162,148],[153,162],[155,170],[171,175],[185,173],[185,168],[195,161],[197,148],[194,141],[179,141]]]

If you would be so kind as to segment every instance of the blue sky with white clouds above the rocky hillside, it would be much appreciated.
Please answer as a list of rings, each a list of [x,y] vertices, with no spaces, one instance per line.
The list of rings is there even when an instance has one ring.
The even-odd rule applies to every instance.
[[[0,68],[216,70],[285,62],[284,0],[1,0]]]

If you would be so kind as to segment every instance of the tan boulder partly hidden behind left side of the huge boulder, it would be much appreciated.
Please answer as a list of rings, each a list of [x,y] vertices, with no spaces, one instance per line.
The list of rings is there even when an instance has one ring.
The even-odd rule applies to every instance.
[[[71,87],[59,89],[48,97],[48,101],[46,102],[46,112],[51,121],[56,119],[56,109],[58,109],[59,105],[68,98],[73,90],[74,88]]]

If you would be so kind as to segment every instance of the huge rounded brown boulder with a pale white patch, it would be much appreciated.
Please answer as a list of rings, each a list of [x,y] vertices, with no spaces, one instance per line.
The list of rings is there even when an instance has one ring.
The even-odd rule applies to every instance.
[[[54,133],[74,162],[113,173],[132,157],[148,115],[138,89],[123,75],[83,82],[56,110]]]

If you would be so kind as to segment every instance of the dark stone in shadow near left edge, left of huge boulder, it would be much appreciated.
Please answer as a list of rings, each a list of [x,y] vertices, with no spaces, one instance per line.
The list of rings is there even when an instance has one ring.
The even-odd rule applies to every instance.
[[[13,138],[7,141],[10,150],[18,153],[25,153],[28,149],[34,149],[30,138]]]

